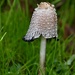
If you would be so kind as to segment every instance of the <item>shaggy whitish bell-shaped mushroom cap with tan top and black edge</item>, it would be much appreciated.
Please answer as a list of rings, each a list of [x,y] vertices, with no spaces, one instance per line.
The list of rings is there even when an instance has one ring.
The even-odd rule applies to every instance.
[[[25,41],[31,41],[42,35],[44,38],[58,37],[57,34],[57,14],[54,5],[41,2],[35,8]]]

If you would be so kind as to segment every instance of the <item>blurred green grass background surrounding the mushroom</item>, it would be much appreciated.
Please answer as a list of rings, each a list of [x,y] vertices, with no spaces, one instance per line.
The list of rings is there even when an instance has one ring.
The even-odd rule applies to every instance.
[[[59,41],[47,40],[46,75],[75,75],[75,0],[0,0],[0,75],[38,74],[40,38],[22,38],[42,1],[58,14]]]

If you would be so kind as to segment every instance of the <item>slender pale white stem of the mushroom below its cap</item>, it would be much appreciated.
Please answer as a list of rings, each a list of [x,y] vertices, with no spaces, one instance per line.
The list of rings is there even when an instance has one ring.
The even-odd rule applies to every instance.
[[[45,54],[46,54],[46,38],[41,37],[40,45],[40,73],[39,75],[45,75]]]

